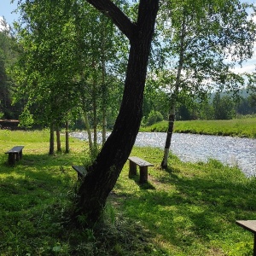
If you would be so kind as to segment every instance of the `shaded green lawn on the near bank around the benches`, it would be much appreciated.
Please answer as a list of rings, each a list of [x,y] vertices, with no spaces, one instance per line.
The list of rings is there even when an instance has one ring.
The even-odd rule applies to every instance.
[[[70,154],[49,156],[48,131],[0,131],[0,255],[251,255],[253,235],[236,219],[256,218],[256,179],[217,160],[183,163],[162,151],[133,148],[154,164],[148,184],[128,178],[125,164],[94,229],[69,216],[88,145],[71,138]],[[14,167],[4,154],[24,145]],[[83,216],[80,220],[83,222]]]

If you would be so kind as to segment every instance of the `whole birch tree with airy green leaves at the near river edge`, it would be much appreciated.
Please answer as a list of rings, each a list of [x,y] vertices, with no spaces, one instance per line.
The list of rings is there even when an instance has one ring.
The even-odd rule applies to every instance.
[[[170,53],[170,76],[176,73],[173,84],[168,84],[172,97],[161,163],[166,168],[179,93],[204,96],[212,89],[239,89],[244,79],[232,67],[252,56],[255,23],[253,15],[247,14],[253,5],[238,0],[172,0],[164,6],[160,13],[163,51]]]

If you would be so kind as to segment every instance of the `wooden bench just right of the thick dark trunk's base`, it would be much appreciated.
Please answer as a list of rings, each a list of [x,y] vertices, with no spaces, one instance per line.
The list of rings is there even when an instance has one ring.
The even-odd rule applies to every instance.
[[[148,166],[154,166],[147,161],[138,158],[137,156],[130,156],[129,177],[137,175],[137,166],[140,167],[140,183],[148,182]]]

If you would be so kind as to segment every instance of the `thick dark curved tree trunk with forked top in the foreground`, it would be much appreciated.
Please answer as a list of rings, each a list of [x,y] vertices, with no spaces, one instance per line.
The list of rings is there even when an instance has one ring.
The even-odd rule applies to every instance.
[[[89,167],[89,173],[78,192],[74,217],[84,214],[90,224],[95,223],[101,216],[108,194],[113,189],[137,137],[143,114],[143,90],[159,0],[141,0],[135,24],[109,0],[87,2],[110,16],[131,43],[118,118],[102,151]]]

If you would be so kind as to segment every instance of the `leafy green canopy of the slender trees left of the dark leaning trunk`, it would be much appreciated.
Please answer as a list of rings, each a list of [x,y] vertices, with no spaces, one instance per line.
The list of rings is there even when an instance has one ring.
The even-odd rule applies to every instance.
[[[86,1],[18,5],[17,38],[24,50],[13,73],[19,84],[16,101],[25,102],[24,112],[46,126],[66,121],[70,113],[73,119],[88,113],[94,127],[102,115],[115,118],[124,71],[118,79],[116,72],[123,69],[127,52],[121,49],[127,41],[112,20]]]

